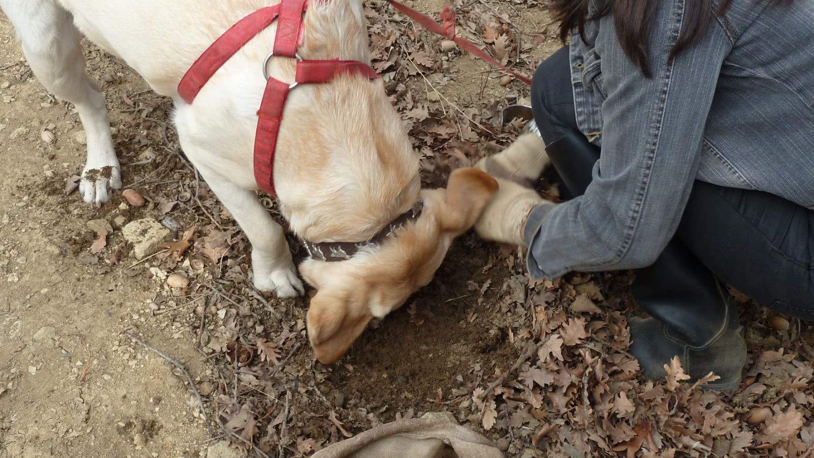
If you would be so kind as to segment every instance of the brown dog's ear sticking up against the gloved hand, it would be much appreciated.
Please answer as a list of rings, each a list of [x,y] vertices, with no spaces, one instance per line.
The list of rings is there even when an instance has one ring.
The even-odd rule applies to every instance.
[[[447,183],[443,229],[456,236],[468,231],[496,192],[497,181],[485,172],[472,167],[454,170]]]

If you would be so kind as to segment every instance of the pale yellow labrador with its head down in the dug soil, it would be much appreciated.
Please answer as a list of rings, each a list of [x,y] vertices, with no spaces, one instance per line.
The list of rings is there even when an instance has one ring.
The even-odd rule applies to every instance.
[[[39,81],[73,103],[87,135],[80,191],[102,205],[121,186],[103,95],[85,73],[80,33],[173,98],[181,145],[252,242],[256,288],[304,293],[277,222],[256,196],[258,108],[267,80],[294,81],[295,59],[271,58],[277,23],[234,52],[194,103],[178,86],[221,34],[278,0],[0,0]],[[300,15],[302,59],[370,63],[361,0],[310,0]],[[300,265],[318,289],[308,313],[317,359],[332,363],[373,317],[430,282],[452,243],[497,191],[475,169],[445,189],[421,189],[419,155],[380,79],[343,73],[292,88],[270,177],[282,214],[311,257]]]

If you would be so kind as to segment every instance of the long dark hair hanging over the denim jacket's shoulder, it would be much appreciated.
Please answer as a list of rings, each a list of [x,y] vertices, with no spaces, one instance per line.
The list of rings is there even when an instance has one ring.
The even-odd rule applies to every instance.
[[[656,7],[661,0],[604,0],[603,6],[596,15],[588,15],[591,0],[550,0],[549,9],[554,20],[560,22],[560,39],[566,42],[571,29],[577,28],[580,37],[585,37],[585,24],[613,12],[616,26],[616,38],[622,45],[622,51],[633,64],[641,68],[641,73],[651,77],[650,68],[650,33],[653,31]],[[693,46],[707,33],[715,16],[722,16],[729,11],[732,0],[722,0],[716,11],[713,11],[712,0],[685,0],[685,18],[678,35],[676,45],[670,50],[669,59],[681,54]],[[755,0],[760,1],[760,0]],[[768,0],[772,6],[788,6],[794,0]]]

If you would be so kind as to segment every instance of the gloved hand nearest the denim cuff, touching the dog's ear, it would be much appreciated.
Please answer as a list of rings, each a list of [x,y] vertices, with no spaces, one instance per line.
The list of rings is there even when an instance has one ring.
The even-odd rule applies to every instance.
[[[475,233],[485,240],[525,246],[523,226],[528,214],[545,200],[531,188],[494,178],[500,187],[475,222]]]

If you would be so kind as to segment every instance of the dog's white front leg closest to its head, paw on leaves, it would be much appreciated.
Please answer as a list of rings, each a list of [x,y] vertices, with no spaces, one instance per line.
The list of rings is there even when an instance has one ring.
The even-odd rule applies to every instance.
[[[303,294],[305,290],[297,276],[285,232],[265,211],[255,192],[239,187],[216,172],[204,169],[200,172],[252,242],[255,288],[274,292],[278,297]]]

